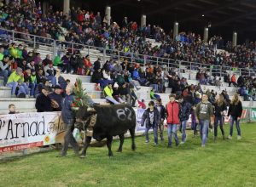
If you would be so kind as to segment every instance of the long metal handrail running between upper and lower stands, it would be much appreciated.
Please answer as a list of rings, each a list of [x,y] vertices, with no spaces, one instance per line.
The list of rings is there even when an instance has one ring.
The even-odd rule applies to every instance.
[[[2,27],[0,27],[0,31],[7,31],[7,32],[11,33],[10,37],[11,37],[12,41],[15,41],[15,34],[23,34],[23,35],[26,34],[25,32],[14,31],[14,30],[10,31],[10,30],[4,29]],[[74,52],[74,50],[76,50],[76,49],[81,49],[80,47],[82,47],[84,49],[88,49],[88,54],[90,54],[90,49],[96,48],[97,50],[102,52],[104,61],[105,61],[107,55],[110,54],[110,56],[117,57],[117,59],[125,58],[125,59],[131,59],[131,61],[132,61],[132,59],[142,60],[144,65],[146,65],[147,62],[151,62],[151,64],[154,64],[154,65],[166,65],[168,67],[168,69],[170,68],[170,66],[172,67],[174,65],[177,67],[177,65],[178,65],[179,71],[180,71],[181,66],[184,66],[189,71],[189,77],[190,77],[191,71],[197,70],[198,67],[200,67],[201,70],[202,69],[209,70],[211,72],[211,76],[212,76],[212,73],[215,73],[215,74],[219,74],[221,77],[222,75],[225,74],[224,71],[226,71],[226,73],[229,72],[229,74],[232,71],[232,67],[230,67],[230,66],[201,64],[199,62],[190,62],[190,61],[179,60],[179,59],[167,59],[167,58],[162,58],[162,57],[149,56],[147,54],[128,53],[125,55],[125,52],[123,52],[123,51],[99,48],[96,46],[85,45],[82,43],[74,43],[74,42],[66,42],[66,41],[62,42],[60,40],[55,40],[55,39],[48,38],[48,37],[40,37],[40,36],[32,35],[32,34],[26,34],[26,35],[28,35],[29,37],[33,37],[32,41],[27,41],[27,42],[33,42],[33,47],[35,47],[36,44],[44,44],[46,46],[52,47],[54,58],[55,58],[55,54],[57,54],[56,52],[58,50],[60,50],[60,48],[58,48],[58,44],[61,43],[61,44],[70,45],[72,47],[72,52]],[[36,38],[42,38],[42,39],[48,40],[50,42],[49,43],[37,42]],[[26,39],[23,39],[20,37],[17,37],[16,39],[18,39],[20,41],[26,41]],[[77,48],[77,46],[79,48]],[[239,72],[239,75],[247,73],[250,76],[252,72],[255,73],[255,71],[253,69],[247,69],[247,68],[243,68],[243,69],[236,68],[236,69]]]

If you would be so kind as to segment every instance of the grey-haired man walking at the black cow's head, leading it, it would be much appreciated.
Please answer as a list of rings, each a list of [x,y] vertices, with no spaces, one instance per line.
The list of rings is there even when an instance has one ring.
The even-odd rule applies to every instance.
[[[74,113],[72,111],[72,104],[74,101],[73,87],[68,85],[66,88],[67,96],[64,99],[61,117],[65,125],[64,144],[61,150],[61,156],[67,155],[68,145],[71,144],[76,155],[79,155],[79,144],[76,139],[73,138],[73,126],[74,126]]]

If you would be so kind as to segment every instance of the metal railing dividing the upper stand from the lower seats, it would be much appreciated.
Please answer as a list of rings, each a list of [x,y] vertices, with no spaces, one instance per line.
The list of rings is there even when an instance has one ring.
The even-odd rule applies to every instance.
[[[224,77],[224,75],[231,75],[232,73],[236,73],[237,75],[247,75],[254,76],[255,70],[248,68],[233,68],[231,66],[223,66],[223,65],[209,65],[209,64],[201,64],[198,62],[190,62],[179,59],[167,59],[160,58],[155,56],[150,56],[147,54],[133,54],[133,53],[125,53],[123,51],[112,50],[108,48],[98,48],[95,46],[84,45],[81,43],[74,42],[62,42],[59,40],[54,40],[48,37],[38,37],[36,35],[26,34],[24,32],[19,31],[9,31],[3,28],[0,28],[0,39],[6,42],[25,42],[28,46],[32,48],[42,48],[42,46],[47,47],[47,52],[52,54],[53,58],[58,53],[65,53],[69,50],[72,54],[76,51],[82,51],[84,54],[89,54],[93,57],[101,57],[103,62],[107,59],[128,59],[129,61],[135,60],[137,63],[146,65],[166,65],[168,70],[170,68],[177,68],[177,71],[180,75],[189,74],[189,77],[192,75],[195,76],[196,71],[203,70],[209,72],[210,76]],[[30,39],[27,39],[28,36]],[[100,53],[92,52],[92,49]],[[184,70],[184,71],[183,71]]]

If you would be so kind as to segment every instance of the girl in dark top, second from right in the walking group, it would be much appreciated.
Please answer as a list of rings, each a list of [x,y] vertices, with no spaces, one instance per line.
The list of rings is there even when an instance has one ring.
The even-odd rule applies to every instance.
[[[218,135],[218,122],[219,122],[219,127],[222,133],[223,139],[224,137],[224,128],[223,128],[223,123],[224,123],[224,111],[227,111],[227,105],[224,101],[224,97],[222,94],[218,94],[216,99],[216,102],[213,104],[213,109],[214,109],[214,141],[217,139]]]

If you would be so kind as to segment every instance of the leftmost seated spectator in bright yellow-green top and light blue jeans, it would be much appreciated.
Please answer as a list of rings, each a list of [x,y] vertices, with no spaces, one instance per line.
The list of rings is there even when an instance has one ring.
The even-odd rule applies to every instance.
[[[16,88],[18,86],[18,82],[20,81],[20,86],[24,84],[24,75],[22,69],[18,67],[16,71],[12,72],[9,76],[6,86],[12,88],[11,94],[14,96],[16,92]]]

